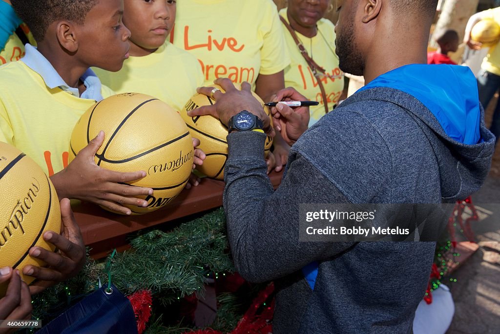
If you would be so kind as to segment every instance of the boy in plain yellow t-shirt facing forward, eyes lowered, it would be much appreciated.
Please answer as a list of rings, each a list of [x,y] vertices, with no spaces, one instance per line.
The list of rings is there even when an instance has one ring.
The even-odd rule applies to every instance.
[[[181,110],[203,85],[203,73],[194,56],[166,41],[175,22],[175,1],[124,0],[123,5],[130,58],[118,72],[95,73],[116,93],[148,94]]]

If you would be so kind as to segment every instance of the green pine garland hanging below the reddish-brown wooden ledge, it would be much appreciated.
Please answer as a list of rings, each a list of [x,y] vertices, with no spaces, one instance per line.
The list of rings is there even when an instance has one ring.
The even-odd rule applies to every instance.
[[[130,250],[112,259],[112,283],[125,295],[140,289],[151,290],[153,306],[156,302],[170,304],[193,292],[203,293],[203,285],[212,272],[234,271],[221,208],[168,232],[140,231],[130,244]],[[47,323],[95,290],[99,278],[102,284],[106,283],[105,263],[106,260],[95,262],[89,258],[76,277],[33,296],[33,317]],[[151,332],[157,327],[155,321],[161,327],[161,318],[156,317],[150,322]]]

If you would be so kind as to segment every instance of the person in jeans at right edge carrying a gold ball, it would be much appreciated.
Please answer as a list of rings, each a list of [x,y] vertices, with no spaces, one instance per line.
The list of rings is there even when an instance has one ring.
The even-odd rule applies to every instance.
[[[470,34],[475,24],[484,19],[493,19],[497,24],[500,24],[500,7],[479,12],[470,17],[465,28],[463,43],[466,43],[472,50],[479,50],[482,47],[480,43],[472,40]],[[500,88],[500,48],[498,48],[498,44],[491,47],[488,55],[484,58],[481,72],[477,76],[477,86],[479,88],[479,101],[483,108],[486,109],[498,88]],[[500,136],[500,104],[498,103],[495,106],[489,130],[496,138]],[[495,145],[496,143],[498,143],[498,140]]]

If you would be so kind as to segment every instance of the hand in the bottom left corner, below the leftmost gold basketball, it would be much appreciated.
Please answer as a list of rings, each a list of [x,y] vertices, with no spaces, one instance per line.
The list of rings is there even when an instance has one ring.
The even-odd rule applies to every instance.
[[[0,283],[7,281],[9,283],[6,294],[0,299],[0,319],[31,319],[32,306],[28,286],[21,281],[17,270],[12,270],[10,267],[0,269]],[[10,333],[15,330],[15,328],[0,328],[0,333]]]

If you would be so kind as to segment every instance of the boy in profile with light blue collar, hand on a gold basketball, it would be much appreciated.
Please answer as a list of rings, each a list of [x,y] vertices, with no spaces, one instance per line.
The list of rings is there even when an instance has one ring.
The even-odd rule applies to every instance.
[[[130,32],[121,22],[122,0],[11,2],[38,48],[27,45],[21,61],[0,67],[0,141],[33,158],[50,176],[59,198],[124,214],[131,212],[123,204],[147,206],[134,196],[152,189],[122,184],[144,177],[144,171],[118,173],[95,165],[103,132],[68,164],[69,138],[79,117],[112,94],[89,67],[118,71],[128,58]]]

